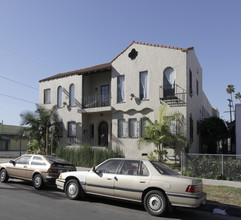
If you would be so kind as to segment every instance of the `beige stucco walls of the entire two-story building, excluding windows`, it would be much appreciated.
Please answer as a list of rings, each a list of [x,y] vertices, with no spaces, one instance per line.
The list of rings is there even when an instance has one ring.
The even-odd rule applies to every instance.
[[[128,54],[135,48],[138,56],[131,60]],[[176,84],[186,90],[187,104],[178,107],[167,107],[167,112],[178,112],[183,116],[183,135],[190,137],[190,116],[193,119],[193,142],[190,145],[191,152],[199,151],[199,135],[197,134],[197,121],[201,120],[205,113],[212,115],[212,107],[202,90],[202,68],[198,62],[194,50],[177,50],[172,48],[155,47],[143,44],[132,44],[112,62],[112,71],[83,76],[74,75],[65,78],[44,81],[40,83],[40,104],[43,104],[44,89],[51,89],[51,104],[45,104],[51,108],[57,104],[57,88],[62,86],[69,91],[69,86],[75,84],[76,106],[66,106],[58,109],[60,118],[65,126],[65,133],[61,140],[62,145],[78,145],[89,142],[91,145],[98,144],[98,126],[101,121],[108,123],[108,141],[110,148],[119,147],[127,157],[140,158],[143,154],[149,154],[155,147],[153,145],[137,147],[138,138],[118,137],[118,119],[136,118],[138,122],[143,116],[152,121],[158,117],[158,110],[163,104],[160,101],[160,86],[163,85],[163,73],[167,67],[172,67],[176,72]],[[192,71],[193,95],[189,95],[189,70]],[[140,72],[148,72],[148,100],[139,99]],[[117,102],[117,78],[125,76],[125,101]],[[198,81],[198,94],[197,84]],[[84,88],[82,84],[84,82]],[[111,106],[82,109],[83,95],[100,94],[100,87],[109,84],[111,91]],[[130,94],[135,97],[130,100]],[[68,94],[63,93],[63,102],[69,103]],[[67,123],[77,123],[76,138],[67,137]],[[90,137],[90,125],[94,125],[94,137]],[[140,131],[140,123],[138,124]],[[139,132],[140,133],[140,132]]]

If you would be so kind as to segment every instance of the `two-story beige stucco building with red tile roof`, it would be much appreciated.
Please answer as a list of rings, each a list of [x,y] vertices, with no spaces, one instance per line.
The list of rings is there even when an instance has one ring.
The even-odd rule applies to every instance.
[[[61,145],[119,147],[126,157],[141,157],[154,146],[137,147],[142,117],[157,119],[163,103],[181,113],[190,152],[199,152],[199,120],[217,111],[202,90],[202,68],[194,48],[132,42],[111,62],[40,80],[40,104],[58,106]]]

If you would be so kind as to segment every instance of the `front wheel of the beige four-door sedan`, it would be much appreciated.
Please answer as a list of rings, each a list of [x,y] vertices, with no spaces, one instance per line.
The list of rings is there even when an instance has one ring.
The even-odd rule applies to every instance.
[[[65,187],[65,193],[69,199],[78,199],[81,196],[82,189],[79,181],[76,179],[71,179],[67,182]]]

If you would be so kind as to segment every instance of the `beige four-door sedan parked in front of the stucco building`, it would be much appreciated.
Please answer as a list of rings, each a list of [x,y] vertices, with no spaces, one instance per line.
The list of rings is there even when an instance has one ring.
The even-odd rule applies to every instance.
[[[141,202],[154,216],[171,206],[196,208],[206,201],[201,179],[184,177],[149,160],[108,159],[90,171],[60,174],[56,185],[69,199],[94,194]]]

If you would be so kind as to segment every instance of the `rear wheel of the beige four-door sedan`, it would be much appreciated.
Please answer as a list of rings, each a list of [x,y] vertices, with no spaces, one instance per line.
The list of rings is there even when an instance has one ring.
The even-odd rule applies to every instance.
[[[152,190],[144,197],[144,207],[149,214],[161,216],[167,210],[167,198],[161,191]]]

